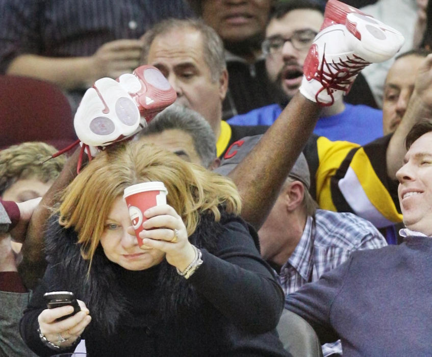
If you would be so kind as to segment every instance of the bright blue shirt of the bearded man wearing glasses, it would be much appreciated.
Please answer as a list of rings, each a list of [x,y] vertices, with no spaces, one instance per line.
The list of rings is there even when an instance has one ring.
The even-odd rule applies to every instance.
[[[271,104],[236,115],[227,122],[233,125],[271,125],[281,112],[278,104]],[[364,145],[384,135],[383,111],[361,104],[345,103],[342,113],[320,117],[314,133],[333,141],[345,140]]]

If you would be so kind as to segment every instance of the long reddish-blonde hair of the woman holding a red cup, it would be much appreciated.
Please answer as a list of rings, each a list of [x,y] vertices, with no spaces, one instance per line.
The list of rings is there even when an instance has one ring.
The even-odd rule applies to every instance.
[[[60,224],[78,233],[81,254],[92,258],[114,200],[131,185],[162,181],[167,203],[182,217],[190,236],[200,214],[220,219],[219,205],[239,214],[240,196],[227,177],[185,162],[171,152],[142,141],[100,152],[66,188],[59,208]]]

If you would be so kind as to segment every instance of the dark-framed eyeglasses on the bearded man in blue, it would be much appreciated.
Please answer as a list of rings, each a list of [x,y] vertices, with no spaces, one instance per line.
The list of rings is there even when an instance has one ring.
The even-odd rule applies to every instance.
[[[275,36],[263,41],[262,50],[265,56],[277,54],[282,51],[285,42],[290,41],[292,46],[297,50],[309,48],[314,41],[317,32],[314,30],[295,31],[290,38]]]

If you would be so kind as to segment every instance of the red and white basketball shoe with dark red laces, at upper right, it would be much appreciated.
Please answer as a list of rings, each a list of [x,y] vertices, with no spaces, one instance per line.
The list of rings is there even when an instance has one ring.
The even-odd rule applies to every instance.
[[[303,65],[300,92],[322,106],[349,92],[352,82],[370,63],[392,58],[403,36],[360,10],[328,0],[324,22]]]

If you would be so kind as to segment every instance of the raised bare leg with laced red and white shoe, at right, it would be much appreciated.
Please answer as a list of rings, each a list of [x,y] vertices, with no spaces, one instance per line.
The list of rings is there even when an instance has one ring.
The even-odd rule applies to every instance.
[[[379,40],[372,37],[364,30],[369,29],[370,23],[358,13],[342,2],[327,2],[321,31],[304,61],[301,94],[291,99],[260,142],[229,175],[242,197],[243,218],[256,228],[265,220],[286,175],[312,134],[319,106],[333,105],[349,91],[364,67],[388,60],[403,44],[398,31],[376,19],[374,30],[382,36]]]

